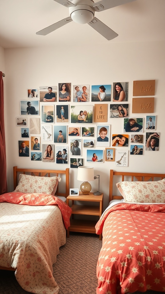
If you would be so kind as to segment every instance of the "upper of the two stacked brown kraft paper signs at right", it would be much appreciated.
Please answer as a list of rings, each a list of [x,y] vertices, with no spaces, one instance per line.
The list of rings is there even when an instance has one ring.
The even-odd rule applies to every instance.
[[[133,96],[154,96],[155,80],[133,81]]]

